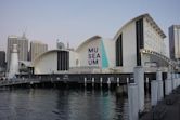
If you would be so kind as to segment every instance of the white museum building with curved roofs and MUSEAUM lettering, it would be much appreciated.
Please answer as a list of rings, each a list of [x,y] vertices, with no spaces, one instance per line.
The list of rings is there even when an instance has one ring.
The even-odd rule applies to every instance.
[[[112,39],[93,36],[76,50],[50,50],[33,61],[35,74],[132,72],[143,66],[149,71],[173,65],[167,57],[166,35],[149,15],[125,24]]]

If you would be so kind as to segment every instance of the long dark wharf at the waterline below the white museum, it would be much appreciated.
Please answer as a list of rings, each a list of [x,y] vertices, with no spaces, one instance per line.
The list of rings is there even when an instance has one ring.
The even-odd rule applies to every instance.
[[[151,75],[150,75],[151,77]],[[116,84],[119,79],[119,84],[126,84],[127,78],[129,82],[133,82],[132,74],[50,74],[50,75],[17,75],[16,78],[0,80],[0,86],[13,86],[24,84],[62,84],[62,83],[78,83],[83,84],[85,79],[87,84],[106,84],[111,81],[111,84]],[[93,80],[93,81],[92,81]]]

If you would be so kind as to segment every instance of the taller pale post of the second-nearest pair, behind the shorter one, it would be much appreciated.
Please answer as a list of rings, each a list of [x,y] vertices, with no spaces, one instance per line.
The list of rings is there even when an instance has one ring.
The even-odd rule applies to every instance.
[[[160,101],[164,97],[164,92],[163,92],[163,77],[162,77],[162,71],[158,69],[156,72],[156,80],[158,82],[158,92],[157,92],[157,99]]]

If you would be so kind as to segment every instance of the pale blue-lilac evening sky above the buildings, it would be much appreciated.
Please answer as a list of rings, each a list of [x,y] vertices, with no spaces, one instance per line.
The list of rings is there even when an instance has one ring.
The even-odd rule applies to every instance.
[[[0,0],[0,51],[8,36],[39,40],[55,49],[56,40],[77,48],[99,35],[114,38],[128,21],[149,13],[167,35],[180,24],[180,0]]]

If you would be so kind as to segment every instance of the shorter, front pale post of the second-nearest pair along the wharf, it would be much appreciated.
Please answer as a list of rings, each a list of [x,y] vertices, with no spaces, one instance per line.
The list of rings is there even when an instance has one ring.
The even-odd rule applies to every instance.
[[[151,82],[151,105],[155,106],[157,105],[158,99],[158,82],[156,80],[153,80]]]

